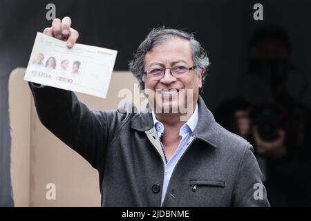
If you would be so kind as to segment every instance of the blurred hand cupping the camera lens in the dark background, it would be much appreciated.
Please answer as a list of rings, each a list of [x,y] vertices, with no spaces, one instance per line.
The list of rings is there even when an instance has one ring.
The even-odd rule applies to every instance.
[[[266,142],[261,139],[257,126],[253,128],[254,141],[256,143],[256,151],[260,154],[266,154],[273,157],[282,157],[285,154],[285,131],[279,129],[279,137],[273,142]]]

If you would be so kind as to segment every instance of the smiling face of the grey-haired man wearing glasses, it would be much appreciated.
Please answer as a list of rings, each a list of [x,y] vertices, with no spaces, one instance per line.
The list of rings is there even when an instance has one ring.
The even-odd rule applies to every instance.
[[[171,37],[154,46],[147,52],[144,61],[145,71],[151,68],[170,68],[173,66],[186,66],[188,68],[194,66],[190,42],[176,37]],[[152,96],[149,96],[147,93],[149,103],[156,104],[156,109],[153,106],[153,111],[157,113],[160,110],[161,113],[164,113],[164,107],[168,106],[169,113],[172,113],[173,108],[176,110],[178,107],[193,108],[192,111],[194,111],[198,101],[198,90],[202,87],[202,73],[196,75],[195,70],[190,70],[181,77],[173,77],[168,69],[162,79],[155,80],[146,76],[144,86],[147,92],[152,94]],[[175,89],[176,93],[165,93],[165,91],[173,89]],[[181,94],[180,89],[184,89],[185,96]],[[187,101],[191,98],[189,89],[193,93],[191,107],[187,106]]]

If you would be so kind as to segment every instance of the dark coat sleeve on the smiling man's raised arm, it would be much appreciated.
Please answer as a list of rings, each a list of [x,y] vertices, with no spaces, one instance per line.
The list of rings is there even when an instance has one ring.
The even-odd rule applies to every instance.
[[[68,90],[29,83],[41,123],[62,142],[82,155],[95,169],[105,158],[111,131],[117,126],[116,111],[90,111]],[[109,134],[110,133],[110,134]]]

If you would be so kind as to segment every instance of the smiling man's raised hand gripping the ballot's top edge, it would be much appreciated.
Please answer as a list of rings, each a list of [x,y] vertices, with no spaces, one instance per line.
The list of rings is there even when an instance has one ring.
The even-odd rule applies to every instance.
[[[70,17],[64,17],[62,21],[60,19],[54,19],[52,26],[50,28],[44,29],[44,34],[66,41],[67,47],[72,48],[79,37],[79,32],[70,26]]]

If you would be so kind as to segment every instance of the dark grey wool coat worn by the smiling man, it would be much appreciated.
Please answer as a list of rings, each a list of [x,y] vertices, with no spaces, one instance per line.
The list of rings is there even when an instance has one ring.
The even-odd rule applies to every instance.
[[[151,113],[130,104],[91,111],[70,91],[30,88],[42,124],[97,169],[102,206],[160,206],[164,164]],[[217,124],[201,97],[198,110],[162,206],[270,206],[252,145]]]

